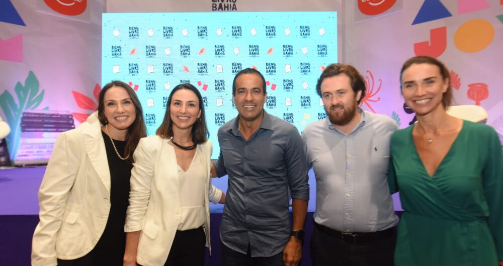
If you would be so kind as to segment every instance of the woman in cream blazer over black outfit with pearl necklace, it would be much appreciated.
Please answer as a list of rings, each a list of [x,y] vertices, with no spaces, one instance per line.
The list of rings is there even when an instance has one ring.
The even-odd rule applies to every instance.
[[[61,133],[39,190],[32,265],[122,265],[132,154],[146,136],[134,90],[113,81],[98,110]]]

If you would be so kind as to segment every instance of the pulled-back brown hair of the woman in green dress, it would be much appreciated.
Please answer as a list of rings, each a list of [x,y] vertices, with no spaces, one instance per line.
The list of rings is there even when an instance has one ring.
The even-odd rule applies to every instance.
[[[413,64],[435,65],[439,68],[440,75],[442,76],[442,81],[448,79],[447,82],[449,85],[446,92],[444,92],[444,94],[442,95],[442,106],[444,106],[444,109],[447,110],[447,108],[449,108],[449,106],[451,106],[452,104],[451,73],[449,72],[449,69],[447,69],[447,67],[444,65],[444,63],[436,58],[429,56],[414,56],[405,61],[405,63],[403,63],[402,69],[400,70],[400,91],[402,90],[403,85],[403,72]]]

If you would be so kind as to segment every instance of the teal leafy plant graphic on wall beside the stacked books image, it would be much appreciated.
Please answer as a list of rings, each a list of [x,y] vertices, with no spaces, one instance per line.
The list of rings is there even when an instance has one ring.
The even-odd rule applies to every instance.
[[[20,120],[23,111],[37,108],[44,98],[44,90],[39,90],[38,79],[32,71],[28,73],[24,86],[21,82],[16,83],[14,92],[18,98],[17,103],[8,90],[0,94],[0,107],[2,107],[7,123],[11,127],[11,133],[7,136],[7,147],[11,159],[14,159],[18,150],[19,138],[21,136]],[[45,107],[44,109],[48,108]]]

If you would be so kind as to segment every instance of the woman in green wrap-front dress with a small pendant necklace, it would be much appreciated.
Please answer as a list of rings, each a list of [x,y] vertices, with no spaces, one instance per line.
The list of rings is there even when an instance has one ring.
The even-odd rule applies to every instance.
[[[391,137],[389,185],[400,191],[395,265],[503,265],[503,154],[487,125],[446,113],[450,74],[413,57],[400,72],[417,123]]]

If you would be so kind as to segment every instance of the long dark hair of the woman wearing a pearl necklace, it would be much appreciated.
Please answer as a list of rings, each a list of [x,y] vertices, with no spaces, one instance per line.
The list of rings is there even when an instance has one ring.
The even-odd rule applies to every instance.
[[[138,146],[138,142],[141,138],[147,136],[147,129],[145,127],[145,121],[143,120],[143,109],[141,108],[138,96],[136,96],[136,93],[128,84],[119,80],[112,81],[103,86],[98,96],[98,119],[101,124],[106,125],[108,123],[105,117],[105,93],[112,87],[124,88],[136,110],[136,118],[127,130],[126,147],[124,149],[124,156],[128,157],[127,161],[133,163],[133,153],[134,150],[136,150],[136,146]]]

